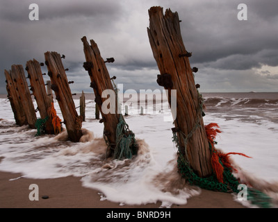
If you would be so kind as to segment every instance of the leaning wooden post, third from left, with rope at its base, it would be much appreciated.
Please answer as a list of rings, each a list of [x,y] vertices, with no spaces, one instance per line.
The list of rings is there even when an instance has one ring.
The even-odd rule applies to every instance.
[[[40,118],[45,119],[49,117],[48,110],[51,108],[49,96],[44,85],[44,79],[42,78],[42,70],[40,69],[40,62],[37,60],[29,60],[26,62],[26,70],[28,72],[28,78],[31,84],[31,91],[37,101],[38,110],[40,112]],[[48,119],[45,123],[45,133],[54,134],[54,127],[52,125],[52,119]]]

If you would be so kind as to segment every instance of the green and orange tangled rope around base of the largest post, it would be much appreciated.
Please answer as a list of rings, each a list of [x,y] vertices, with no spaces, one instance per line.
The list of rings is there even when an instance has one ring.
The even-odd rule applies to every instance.
[[[202,114],[204,101],[202,100],[201,95],[199,95],[199,99],[201,99],[199,105],[200,113]],[[179,173],[181,173],[181,177],[186,178],[190,185],[197,185],[203,189],[238,193],[238,185],[240,185],[240,181],[233,175],[233,171],[237,172],[237,170],[232,167],[231,161],[229,160],[229,155],[243,155],[245,157],[248,156],[243,153],[221,153],[215,148],[214,145],[217,144],[217,142],[215,142],[215,137],[218,133],[221,133],[221,131],[218,129],[219,126],[217,123],[210,123],[205,126],[208,146],[209,150],[211,151],[211,166],[213,169],[213,174],[206,178],[200,178],[190,167],[186,146],[188,144],[188,139],[192,137],[196,128],[199,126],[200,119],[201,115],[199,114],[193,130],[191,130],[188,135],[185,135],[183,132],[179,131],[179,136],[182,137],[185,145],[184,152],[182,151],[181,144],[179,144],[177,131],[173,130],[172,141],[178,148],[177,167]],[[184,157],[183,153],[186,154],[186,158]],[[261,191],[253,189],[252,187],[247,189],[247,200],[250,200],[252,204],[258,205],[259,207],[268,208],[272,206],[271,198],[269,196],[263,194]]]

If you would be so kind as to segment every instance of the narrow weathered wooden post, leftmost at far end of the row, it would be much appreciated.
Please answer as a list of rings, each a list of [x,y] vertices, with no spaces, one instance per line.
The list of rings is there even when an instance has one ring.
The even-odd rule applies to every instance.
[[[10,101],[10,106],[12,107],[13,114],[15,116],[15,123],[19,126],[23,126],[27,124],[27,119],[25,116],[24,109],[22,107],[22,103],[19,100],[19,92],[17,87],[17,80],[13,80],[10,72],[5,69],[6,76],[6,89],[8,92],[8,99]]]

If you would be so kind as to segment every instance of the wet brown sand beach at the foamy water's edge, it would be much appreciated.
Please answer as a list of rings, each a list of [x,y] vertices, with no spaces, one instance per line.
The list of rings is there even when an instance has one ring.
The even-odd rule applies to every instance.
[[[82,187],[81,178],[69,176],[55,179],[28,179],[19,173],[0,172],[1,208],[158,208],[161,203],[120,205],[100,200],[99,191]],[[19,178],[20,177],[20,178]],[[14,180],[17,178],[16,180]],[[29,185],[39,187],[39,200],[29,200]],[[42,196],[49,196],[43,199]],[[231,194],[202,189],[199,196],[188,199],[186,205],[172,208],[243,208]]]

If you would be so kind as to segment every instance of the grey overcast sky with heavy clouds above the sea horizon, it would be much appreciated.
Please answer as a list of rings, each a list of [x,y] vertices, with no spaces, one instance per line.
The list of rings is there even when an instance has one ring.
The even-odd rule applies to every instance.
[[[29,19],[31,3],[39,6],[38,21]],[[247,21],[238,20],[239,3],[247,5]],[[161,89],[147,37],[152,6],[179,13],[201,92],[278,92],[277,0],[0,0],[0,94],[6,94],[4,69],[25,68],[33,58],[44,62],[46,51],[65,54],[72,92],[92,92],[83,69],[84,35],[104,59],[115,58],[108,71],[124,89]]]

